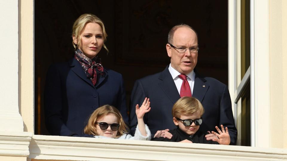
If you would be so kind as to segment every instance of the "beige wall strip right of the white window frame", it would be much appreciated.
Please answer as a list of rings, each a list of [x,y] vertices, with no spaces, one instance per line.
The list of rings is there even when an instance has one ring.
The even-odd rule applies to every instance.
[[[270,147],[283,148],[283,26],[282,1],[269,1]],[[276,132],[275,132],[276,131]],[[281,137],[280,137],[281,136]]]

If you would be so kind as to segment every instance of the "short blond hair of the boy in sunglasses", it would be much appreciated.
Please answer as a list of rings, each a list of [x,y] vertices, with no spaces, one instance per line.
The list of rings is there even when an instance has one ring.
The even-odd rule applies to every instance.
[[[172,107],[172,116],[175,118],[179,118],[181,114],[191,115],[196,112],[202,116],[204,108],[200,101],[194,97],[181,97]]]

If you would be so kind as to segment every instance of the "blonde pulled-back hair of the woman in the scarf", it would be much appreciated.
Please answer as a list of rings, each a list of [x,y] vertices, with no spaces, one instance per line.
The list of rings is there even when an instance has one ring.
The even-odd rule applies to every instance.
[[[74,39],[73,39],[72,43],[73,43],[73,46],[74,46],[75,49],[79,48],[79,42],[81,42],[80,33],[82,32],[82,30],[85,27],[85,25],[87,23],[89,23],[89,22],[93,22],[93,23],[96,23],[96,24],[100,25],[100,27],[102,28],[102,31],[103,31],[103,40],[104,40],[104,42],[106,41],[108,35],[106,33],[103,21],[100,18],[98,18],[97,16],[95,16],[95,15],[93,15],[91,13],[83,14],[74,22],[74,25],[73,25],[72,36],[75,36],[74,39],[78,40],[78,43],[75,44],[74,43]],[[106,47],[105,44],[103,44],[103,47],[109,52],[109,50],[108,50],[108,48]]]

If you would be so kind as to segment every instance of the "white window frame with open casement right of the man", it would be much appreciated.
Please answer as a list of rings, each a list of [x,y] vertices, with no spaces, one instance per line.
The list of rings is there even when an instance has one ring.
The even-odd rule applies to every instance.
[[[250,80],[251,146],[269,147],[270,79],[269,79],[269,1],[250,0],[250,67],[237,86],[238,5],[240,0],[228,1],[228,87],[235,122],[236,104],[242,89]],[[263,79],[262,79],[263,78]],[[240,136],[239,136],[240,139]]]

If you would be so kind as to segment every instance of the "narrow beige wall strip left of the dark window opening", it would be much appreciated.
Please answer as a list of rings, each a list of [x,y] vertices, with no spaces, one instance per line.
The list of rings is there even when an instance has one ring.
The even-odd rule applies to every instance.
[[[20,14],[21,13],[21,14]],[[19,0],[19,112],[34,133],[33,0]]]

